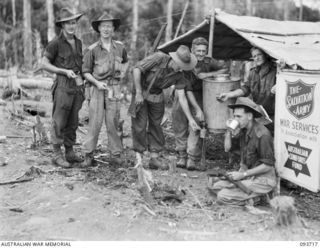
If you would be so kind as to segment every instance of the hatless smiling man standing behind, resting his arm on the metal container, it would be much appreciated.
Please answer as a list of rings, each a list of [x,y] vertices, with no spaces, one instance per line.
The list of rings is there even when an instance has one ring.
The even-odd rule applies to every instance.
[[[198,37],[192,41],[192,53],[198,60],[194,70],[196,77],[190,75],[192,92],[197,105],[200,107],[200,110],[194,112],[202,112],[202,80],[225,73],[227,68],[225,63],[206,56],[208,54],[208,41],[205,38]],[[189,101],[192,101],[192,98],[189,98]],[[195,118],[198,122],[200,121],[197,116]],[[199,164],[202,150],[200,131],[189,130],[188,119],[181,108],[177,94],[175,94],[172,107],[172,126],[175,134],[176,151],[178,152],[177,167],[187,167],[188,170],[204,169],[200,168]],[[188,160],[186,161],[187,157]]]

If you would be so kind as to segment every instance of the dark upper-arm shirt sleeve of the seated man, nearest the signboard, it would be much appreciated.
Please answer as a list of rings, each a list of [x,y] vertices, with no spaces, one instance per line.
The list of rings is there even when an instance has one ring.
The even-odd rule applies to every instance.
[[[273,138],[270,135],[262,135],[259,139],[259,162],[274,166]]]

